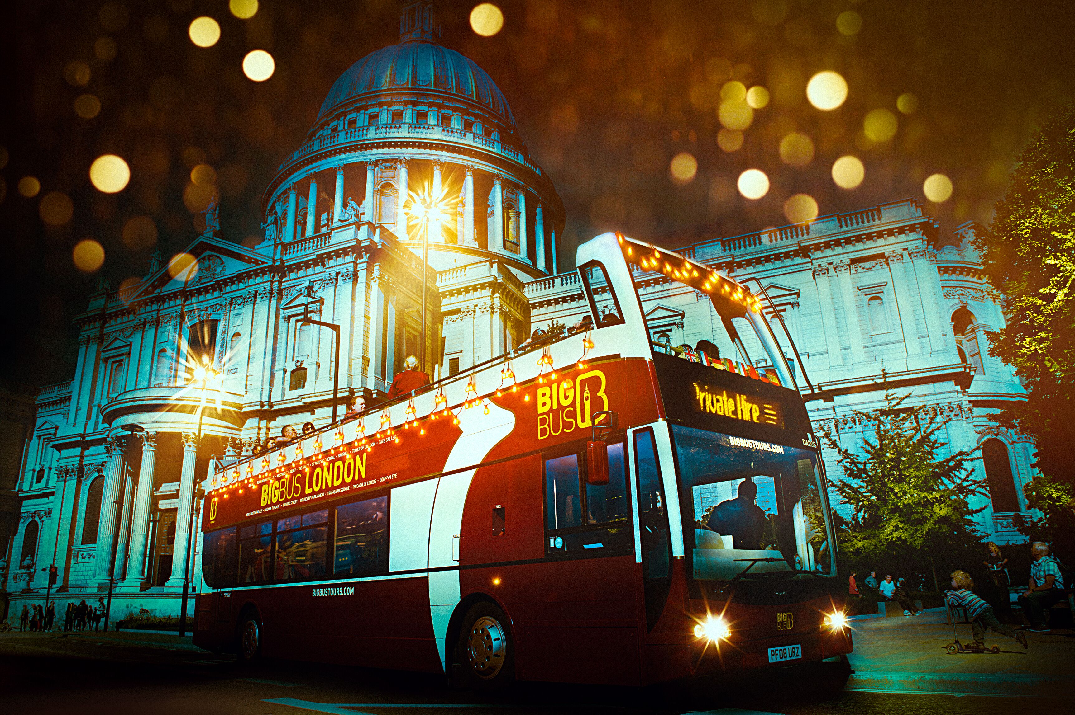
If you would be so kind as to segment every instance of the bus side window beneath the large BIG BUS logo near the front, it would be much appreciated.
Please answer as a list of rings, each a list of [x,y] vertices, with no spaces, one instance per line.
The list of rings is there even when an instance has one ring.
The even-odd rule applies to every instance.
[[[546,553],[630,550],[624,443],[607,449],[607,484],[586,483],[578,453],[545,459]]]

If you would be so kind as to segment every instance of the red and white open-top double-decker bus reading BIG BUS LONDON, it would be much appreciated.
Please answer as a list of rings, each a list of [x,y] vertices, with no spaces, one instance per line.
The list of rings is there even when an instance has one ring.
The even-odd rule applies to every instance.
[[[759,297],[614,234],[577,264],[574,332],[218,472],[195,643],[473,686],[846,662],[818,440]],[[651,340],[639,291],[669,280],[712,306],[701,350]]]

